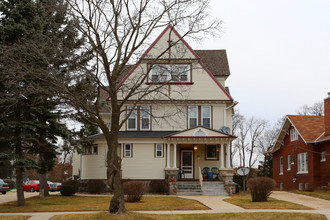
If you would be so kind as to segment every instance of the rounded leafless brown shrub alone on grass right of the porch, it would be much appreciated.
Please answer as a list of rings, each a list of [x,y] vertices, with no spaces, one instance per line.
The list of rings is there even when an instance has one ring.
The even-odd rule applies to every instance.
[[[254,177],[248,180],[247,187],[251,192],[252,202],[266,202],[275,188],[275,181],[269,177]]]

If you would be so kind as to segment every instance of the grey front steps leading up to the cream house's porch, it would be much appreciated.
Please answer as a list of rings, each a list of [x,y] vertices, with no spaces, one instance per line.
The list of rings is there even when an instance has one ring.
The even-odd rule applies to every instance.
[[[203,182],[203,191],[197,181],[179,181],[177,195],[228,196],[224,182]]]

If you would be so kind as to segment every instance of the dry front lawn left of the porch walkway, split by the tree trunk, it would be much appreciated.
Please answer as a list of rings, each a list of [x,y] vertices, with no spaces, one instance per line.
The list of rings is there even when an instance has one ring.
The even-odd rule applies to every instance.
[[[38,196],[26,199],[26,205],[17,207],[15,202],[0,205],[0,212],[60,212],[60,211],[106,211],[109,196]],[[207,210],[200,202],[176,197],[143,197],[141,202],[126,203],[129,211]]]

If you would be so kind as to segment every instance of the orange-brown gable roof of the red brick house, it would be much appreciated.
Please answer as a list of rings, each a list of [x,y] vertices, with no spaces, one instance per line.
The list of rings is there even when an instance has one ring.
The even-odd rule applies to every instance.
[[[293,126],[297,130],[298,134],[306,144],[315,144],[330,140],[330,137],[324,136],[324,116],[287,115],[273,146],[272,152],[280,149],[284,137],[289,134],[288,130],[290,126]]]

